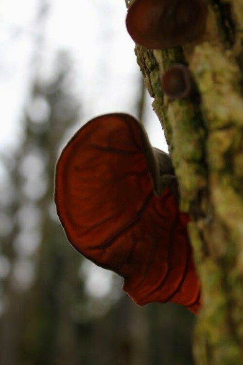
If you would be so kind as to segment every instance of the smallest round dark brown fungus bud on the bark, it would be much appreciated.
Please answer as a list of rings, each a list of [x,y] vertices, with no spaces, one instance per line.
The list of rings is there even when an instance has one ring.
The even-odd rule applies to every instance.
[[[171,99],[182,99],[190,96],[193,80],[188,68],[178,63],[166,70],[162,76],[161,85]]]

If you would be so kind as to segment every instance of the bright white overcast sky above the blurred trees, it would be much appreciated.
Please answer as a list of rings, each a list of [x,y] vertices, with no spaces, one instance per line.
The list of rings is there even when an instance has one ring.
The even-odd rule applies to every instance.
[[[21,114],[36,66],[33,57],[40,2],[0,0],[0,153],[7,154],[21,140]],[[56,51],[69,51],[76,73],[74,88],[82,105],[80,125],[104,113],[134,115],[140,74],[134,43],[125,28],[124,0],[50,0],[49,4],[40,66],[48,73]],[[144,122],[152,145],[167,151],[152,101],[147,94]],[[93,270],[92,276],[91,272],[87,290],[90,283],[95,286],[92,280],[98,275],[97,285],[105,294],[110,274]],[[103,276],[102,281],[104,273],[106,279]]]

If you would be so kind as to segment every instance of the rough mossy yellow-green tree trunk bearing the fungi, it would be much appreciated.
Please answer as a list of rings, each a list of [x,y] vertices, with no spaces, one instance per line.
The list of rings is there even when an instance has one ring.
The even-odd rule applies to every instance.
[[[126,0],[126,5],[133,0]],[[202,283],[198,365],[243,364],[243,1],[209,0],[205,34],[135,53],[164,129]],[[199,93],[170,101],[161,74],[188,65]]]

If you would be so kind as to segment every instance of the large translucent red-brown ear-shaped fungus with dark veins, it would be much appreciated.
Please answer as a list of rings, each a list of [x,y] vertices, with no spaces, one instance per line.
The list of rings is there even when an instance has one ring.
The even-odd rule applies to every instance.
[[[196,313],[200,285],[187,236],[189,216],[178,210],[168,187],[156,193],[159,155],[167,156],[156,154],[132,116],[91,120],[57,163],[57,212],[70,243],[123,276],[123,290],[136,303],[171,301]],[[168,164],[162,173],[170,170]]]

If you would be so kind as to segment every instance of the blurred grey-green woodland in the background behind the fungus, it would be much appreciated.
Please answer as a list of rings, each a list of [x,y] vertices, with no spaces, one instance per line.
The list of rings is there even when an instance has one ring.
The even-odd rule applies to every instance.
[[[47,3],[40,5],[38,29],[47,15]],[[23,137],[1,154],[0,365],[192,365],[194,316],[173,304],[138,307],[117,275],[82,258],[65,237],[54,169],[85,108],[68,52],[57,52],[43,74],[42,40],[35,40]],[[144,121],[147,96],[137,80],[132,110]]]

